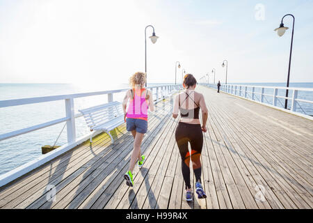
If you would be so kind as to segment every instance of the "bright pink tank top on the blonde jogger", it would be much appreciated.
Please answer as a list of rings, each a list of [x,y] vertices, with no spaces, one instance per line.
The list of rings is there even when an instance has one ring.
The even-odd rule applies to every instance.
[[[127,109],[127,118],[140,118],[147,120],[147,101],[145,100],[145,95],[142,95],[145,89],[132,89],[134,93],[134,98],[129,99],[129,106]],[[146,91],[147,92],[147,91]],[[139,94],[139,95],[138,95]]]

